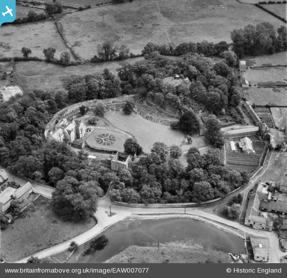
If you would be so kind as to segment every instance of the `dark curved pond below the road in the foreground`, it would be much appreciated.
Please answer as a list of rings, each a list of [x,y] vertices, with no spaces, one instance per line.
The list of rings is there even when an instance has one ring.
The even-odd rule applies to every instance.
[[[157,246],[157,241],[162,244],[188,238],[204,248],[237,254],[244,252],[242,238],[189,218],[125,220],[100,235],[106,236],[107,244],[101,250],[81,256],[78,263],[102,263],[132,245]]]

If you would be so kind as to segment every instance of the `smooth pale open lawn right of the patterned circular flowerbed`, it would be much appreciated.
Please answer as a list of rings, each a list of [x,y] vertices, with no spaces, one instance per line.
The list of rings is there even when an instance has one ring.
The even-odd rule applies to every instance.
[[[124,112],[109,112],[104,116],[114,126],[130,132],[144,148],[144,152],[150,152],[155,142],[163,142],[167,146],[180,145],[184,139],[181,131],[172,130],[169,126],[150,122],[138,114],[125,115]]]

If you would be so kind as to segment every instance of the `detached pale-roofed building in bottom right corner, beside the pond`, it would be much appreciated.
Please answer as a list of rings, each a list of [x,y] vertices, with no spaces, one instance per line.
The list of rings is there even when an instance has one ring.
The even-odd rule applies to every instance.
[[[251,247],[254,254],[254,261],[269,261],[269,238],[260,236],[250,236]]]

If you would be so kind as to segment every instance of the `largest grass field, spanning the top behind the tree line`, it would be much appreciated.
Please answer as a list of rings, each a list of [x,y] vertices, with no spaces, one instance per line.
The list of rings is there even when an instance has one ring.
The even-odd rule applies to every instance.
[[[104,40],[126,44],[133,53],[140,53],[148,42],[231,42],[231,31],[262,21],[275,28],[283,25],[267,12],[235,0],[181,0],[180,5],[175,0],[149,0],[141,6],[134,1],[61,18],[68,41],[84,58],[93,57]]]

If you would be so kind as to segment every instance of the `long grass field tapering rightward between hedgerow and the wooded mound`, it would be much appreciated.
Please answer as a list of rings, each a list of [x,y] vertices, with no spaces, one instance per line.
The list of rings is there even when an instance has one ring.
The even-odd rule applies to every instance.
[[[128,61],[134,63],[141,59],[144,58],[139,57]],[[117,75],[116,69],[120,63],[122,61],[65,67],[45,62],[16,62],[14,76],[24,91],[36,88],[47,91],[48,89],[62,87],[62,79],[72,74],[102,73],[105,68],[108,68],[113,74]]]

